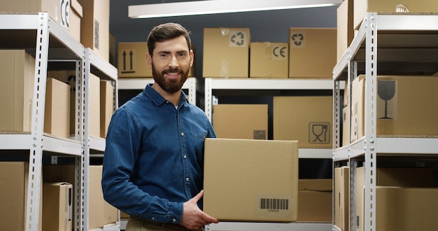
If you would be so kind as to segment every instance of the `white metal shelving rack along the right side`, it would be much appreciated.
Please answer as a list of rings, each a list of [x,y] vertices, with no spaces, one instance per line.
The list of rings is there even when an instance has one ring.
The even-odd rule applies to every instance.
[[[379,41],[379,43],[378,43]],[[379,50],[379,56],[378,56]],[[363,64],[363,66],[362,66]],[[378,69],[379,64],[379,69]],[[359,70],[362,66],[362,70]],[[393,138],[376,134],[377,74],[379,71],[421,70],[435,73],[438,67],[438,15],[379,15],[367,13],[358,34],[344,56],[334,66],[334,151],[333,161],[348,161],[350,167],[349,226],[355,230],[355,168],[357,158],[365,162],[365,230],[376,230],[376,165],[379,155],[438,155],[437,138]],[[341,146],[340,119],[342,104],[339,85],[351,84],[364,71],[365,78],[365,136]],[[434,72],[435,71],[435,72]],[[348,106],[351,109],[351,87]],[[351,110],[346,116],[350,118]],[[351,125],[350,125],[351,127]],[[348,134],[348,137],[350,134]]]

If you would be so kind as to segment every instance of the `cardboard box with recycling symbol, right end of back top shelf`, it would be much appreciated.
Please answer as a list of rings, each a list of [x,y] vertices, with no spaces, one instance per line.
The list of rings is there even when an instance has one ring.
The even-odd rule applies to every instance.
[[[337,29],[289,29],[289,78],[332,78]]]

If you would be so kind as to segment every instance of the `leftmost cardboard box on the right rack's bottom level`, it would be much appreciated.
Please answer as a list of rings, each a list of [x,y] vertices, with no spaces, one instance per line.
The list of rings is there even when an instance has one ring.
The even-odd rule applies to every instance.
[[[334,225],[348,231],[350,205],[348,203],[350,168],[334,168]]]

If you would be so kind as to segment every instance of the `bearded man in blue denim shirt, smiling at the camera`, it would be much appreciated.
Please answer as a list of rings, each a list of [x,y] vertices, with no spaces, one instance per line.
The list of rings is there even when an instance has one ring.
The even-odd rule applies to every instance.
[[[101,183],[105,200],[131,215],[127,231],[203,230],[218,223],[200,209],[204,138],[216,134],[181,90],[193,64],[190,48],[181,25],[154,27],[146,54],[154,83],[111,118]]]

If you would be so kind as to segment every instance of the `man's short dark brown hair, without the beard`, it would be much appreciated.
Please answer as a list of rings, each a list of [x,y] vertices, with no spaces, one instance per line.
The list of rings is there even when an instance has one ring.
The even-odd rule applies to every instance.
[[[172,38],[178,38],[179,36],[184,36],[187,41],[188,48],[192,48],[192,41],[190,41],[190,31],[185,29],[178,23],[168,22],[162,25],[157,25],[154,27],[148,35],[148,51],[149,55],[153,55],[153,50],[155,49],[155,43],[167,41]]]

